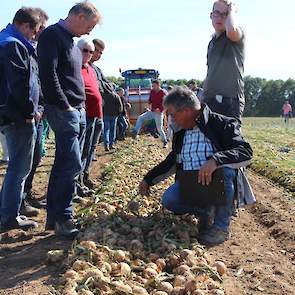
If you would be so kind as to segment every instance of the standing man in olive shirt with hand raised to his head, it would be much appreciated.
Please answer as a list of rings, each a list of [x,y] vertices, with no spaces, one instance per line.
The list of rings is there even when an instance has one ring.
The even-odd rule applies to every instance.
[[[204,102],[217,113],[239,121],[244,110],[244,32],[237,26],[232,1],[214,2],[210,14],[215,33],[208,45]]]

